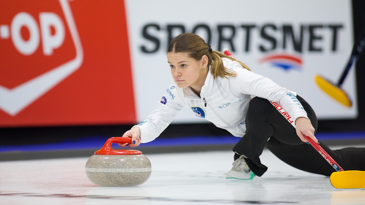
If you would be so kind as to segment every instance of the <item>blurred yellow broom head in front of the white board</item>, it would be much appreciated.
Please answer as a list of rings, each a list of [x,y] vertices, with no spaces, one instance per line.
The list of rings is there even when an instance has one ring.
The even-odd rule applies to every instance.
[[[322,76],[316,76],[315,81],[317,82],[319,88],[321,88],[324,92],[333,97],[335,100],[345,105],[346,107],[352,106],[352,102],[349,96],[347,96],[346,92],[343,91],[341,88],[327,81]]]

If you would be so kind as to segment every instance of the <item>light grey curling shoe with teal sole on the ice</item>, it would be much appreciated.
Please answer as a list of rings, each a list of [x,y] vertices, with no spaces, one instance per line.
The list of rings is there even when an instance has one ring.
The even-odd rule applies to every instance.
[[[246,164],[243,155],[236,159],[232,165],[233,167],[228,171],[226,179],[250,180],[255,176],[250,167]]]

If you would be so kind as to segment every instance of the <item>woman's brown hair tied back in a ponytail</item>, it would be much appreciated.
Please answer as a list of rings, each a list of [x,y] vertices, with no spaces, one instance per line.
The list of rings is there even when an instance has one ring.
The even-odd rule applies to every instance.
[[[203,55],[208,57],[208,66],[211,66],[211,73],[213,74],[214,79],[216,77],[225,77],[227,76],[237,76],[237,74],[227,69],[223,66],[222,58],[228,58],[232,61],[237,61],[234,58],[229,57],[219,51],[211,50],[210,46],[205,43],[204,39],[200,36],[193,33],[183,33],[176,36],[169,44],[167,48],[167,53],[188,53],[189,57],[200,61]],[[243,68],[250,70],[248,66],[246,66],[241,61],[237,61]]]

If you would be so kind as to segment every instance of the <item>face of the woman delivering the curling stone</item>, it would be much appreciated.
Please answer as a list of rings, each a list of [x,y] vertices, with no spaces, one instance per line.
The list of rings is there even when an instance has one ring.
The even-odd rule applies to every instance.
[[[196,61],[188,56],[187,53],[168,53],[167,61],[170,65],[171,74],[179,88],[197,86],[203,84],[203,61]]]

